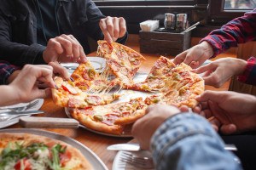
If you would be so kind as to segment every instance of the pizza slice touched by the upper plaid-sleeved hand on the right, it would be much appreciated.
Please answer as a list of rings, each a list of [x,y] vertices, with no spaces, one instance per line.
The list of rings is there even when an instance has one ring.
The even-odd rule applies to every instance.
[[[168,77],[172,76],[172,69],[175,68],[175,66],[171,59],[160,56],[148,73],[148,77],[143,82],[131,84],[125,88],[148,92],[160,91],[161,88],[166,85]]]

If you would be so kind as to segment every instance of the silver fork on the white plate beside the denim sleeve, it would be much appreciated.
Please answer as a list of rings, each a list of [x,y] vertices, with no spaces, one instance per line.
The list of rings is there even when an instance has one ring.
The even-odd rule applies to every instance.
[[[133,167],[139,167],[142,169],[153,169],[154,168],[154,161],[152,157],[140,157],[131,154],[130,152],[123,152],[120,156],[120,161],[128,163]]]

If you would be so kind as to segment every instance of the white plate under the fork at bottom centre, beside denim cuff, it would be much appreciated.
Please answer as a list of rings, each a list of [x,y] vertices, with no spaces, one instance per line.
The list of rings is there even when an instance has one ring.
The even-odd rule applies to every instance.
[[[139,167],[134,167],[131,166],[129,163],[126,163],[124,161],[121,161],[121,157],[124,153],[131,153],[135,156],[140,156],[140,157],[151,157],[151,153],[148,150],[140,150],[140,151],[134,151],[134,152],[129,152],[129,151],[118,151],[116,156],[113,159],[113,165],[112,165],[112,170],[143,170],[142,168]],[[154,170],[154,169],[148,169],[148,170]]]

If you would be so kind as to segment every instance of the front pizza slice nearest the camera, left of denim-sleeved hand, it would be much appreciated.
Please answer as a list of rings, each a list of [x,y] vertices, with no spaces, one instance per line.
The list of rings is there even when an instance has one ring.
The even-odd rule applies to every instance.
[[[97,105],[86,109],[72,109],[71,116],[85,127],[113,134],[122,134],[126,124],[145,115],[147,105],[142,98],[109,105]]]

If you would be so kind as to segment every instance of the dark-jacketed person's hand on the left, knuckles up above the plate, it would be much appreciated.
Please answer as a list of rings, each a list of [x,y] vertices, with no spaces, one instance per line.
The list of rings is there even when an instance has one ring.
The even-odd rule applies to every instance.
[[[43,58],[46,63],[59,62],[86,62],[84,49],[73,35],[62,34],[59,37],[50,38],[44,50]]]

